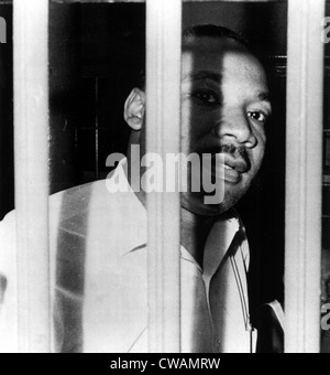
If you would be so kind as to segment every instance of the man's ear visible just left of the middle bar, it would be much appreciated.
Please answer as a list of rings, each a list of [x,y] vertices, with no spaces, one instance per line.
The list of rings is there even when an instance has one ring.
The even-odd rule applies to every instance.
[[[140,88],[134,88],[124,105],[124,119],[133,130],[141,130],[144,114],[145,94]]]

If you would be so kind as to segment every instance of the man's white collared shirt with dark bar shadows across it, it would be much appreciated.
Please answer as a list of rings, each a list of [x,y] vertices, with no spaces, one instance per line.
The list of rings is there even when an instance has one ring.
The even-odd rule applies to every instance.
[[[118,183],[127,193],[109,192]],[[127,179],[55,194],[50,213],[54,351],[147,352],[147,212]],[[0,294],[0,352],[16,351],[14,215],[0,225],[0,276],[8,281],[2,304]],[[180,255],[183,352],[254,351],[249,246],[238,215],[215,224],[202,267],[184,247]]]

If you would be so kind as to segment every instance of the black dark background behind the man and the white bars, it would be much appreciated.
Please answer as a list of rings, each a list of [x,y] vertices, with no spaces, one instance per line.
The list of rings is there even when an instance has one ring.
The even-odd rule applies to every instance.
[[[29,1],[29,0],[28,0]],[[329,3],[328,3],[329,6]],[[330,7],[328,7],[330,14]],[[0,44],[0,219],[14,207],[12,120],[12,7],[0,1],[9,40]],[[251,245],[253,307],[283,300],[286,24],[276,3],[185,3],[184,25],[217,23],[242,32],[266,62],[274,117],[260,178],[239,205]],[[51,192],[105,178],[107,156],[125,152],[129,128],[123,103],[140,81],[145,56],[145,7],[51,2],[50,165]],[[328,49],[328,47],[327,47]],[[327,55],[330,56],[328,49]],[[329,88],[329,71],[327,69]],[[324,174],[330,175],[329,95],[324,106]],[[329,184],[324,179],[324,228]],[[329,250],[329,231],[323,247]],[[253,310],[254,311],[254,310]]]

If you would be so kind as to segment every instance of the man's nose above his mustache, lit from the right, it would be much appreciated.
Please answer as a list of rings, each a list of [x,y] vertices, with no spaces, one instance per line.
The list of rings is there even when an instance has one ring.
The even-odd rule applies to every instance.
[[[244,113],[231,113],[222,116],[221,120],[215,128],[216,136],[220,139],[235,141],[244,144],[246,148],[254,148],[257,139],[251,127],[250,119]]]

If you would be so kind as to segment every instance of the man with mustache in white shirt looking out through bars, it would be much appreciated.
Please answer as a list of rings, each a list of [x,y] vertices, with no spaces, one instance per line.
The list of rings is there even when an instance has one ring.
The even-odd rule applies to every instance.
[[[212,25],[184,33],[182,151],[224,158],[224,197],[206,204],[204,191],[193,191],[189,183],[182,193],[183,352],[254,350],[246,285],[249,247],[233,206],[262,164],[272,114],[268,97],[265,72],[239,35]],[[141,157],[145,153],[145,106],[143,89],[134,88],[124,106],[132,128],[128,159],[107,182],[51,197],[56,351],[147,350],[146,193],[131,189],[130,173],[136,162],[131,146],[140,147]],[[120,192],[110,193],[118,184]],[[15,303],[10,282],[14,259],[8,249],[14,246],[13,228],[11,213],[0,229],[1,244],[9,250],[0,256],[7,287],[2,306],[7,324],[0,338],[14,335],[14,329],[9,334],[8,328],[15,326],[9,314]],[[10,339],[3,346],[10,347]]]

